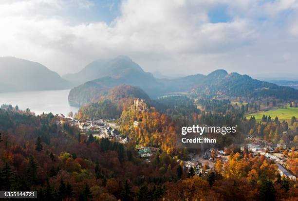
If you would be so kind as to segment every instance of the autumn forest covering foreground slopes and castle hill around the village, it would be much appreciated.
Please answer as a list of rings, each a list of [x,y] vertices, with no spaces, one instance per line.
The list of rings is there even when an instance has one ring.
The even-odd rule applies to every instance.
[[[295,143],[295,117],[289,125],[268,117],[257,122],[245,119],[244,105],[216,99],[195,102],[186,96],[169,96],[151,104],[156,108],[123,108],[117,124],[131,139],[126,145],[81,134],[77,127],[61,125],[51,113],[35,116],[29,109],[3,105],[0,188],[37,190],[39,200],[57,201],[295,201],[298,197],[297,183],[281,178],[273,161],[241,152],[237,146],[248,135]],[[139,122],[137,128],[132,126],[134,121]],[[185,125],[239,125],[235,135],[218,135],[215,148],[230,147],[226,148],[228,161],[217,161],[209,171],[204,166],[199,176],[193,168],[184,169],[177,160],[192,150],[177,148],[175,139]],[[146,163],[138,157],[136,145],[159,147],[161,152]],[[294,150],[284,154],[289,157],[286,167],[297,174]]]

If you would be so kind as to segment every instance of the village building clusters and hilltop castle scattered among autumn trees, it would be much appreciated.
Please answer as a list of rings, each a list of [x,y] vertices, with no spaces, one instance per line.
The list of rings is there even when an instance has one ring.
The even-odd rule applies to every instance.
[[[148,106],[143,99],[135,99],[130,110],[148,110]],[[92,133],[95,138],[109,138],[110,140],[115,140],[122,144],[126,144],[130,141],[129,137],[121,134],[119,126],[115,124],[115,119],[77,120],[73,117],[65,117],[63,114],[58,116],[60,117],[60,125],[68,122],[72,126],[77,126],[81,134]],[[133,128],[137,128],[139,123],[138,121],[134,121],[132,125]],[[266,159],[270,159],[276,163],[281,175],[296,180],[296,176],[285,168],[287,156],[281,153],[281,151],[291,152],[292,150],[287,148],[292,146],[294,145],[287,145],[282,140],[275,145],[261,140],[260,138],[249,136],[245,139],[245,144],[239,145],[239,150],[242,152],[245,150],[249,151],[253,156],[258,157],[261,154],[264,155]],[[157,152],[162,152],[162,150],[157,147],[139,145],[136,146],[136,150],[139,157],[143,158],[146,163],[150,163],[152,157],[154,157]],[[176,160],[177,163],[183,165],[184,169],[189,170],[193,168],[197,175],[204,175],[208,170],[214,168],[217,160],[220,160],[221,163],[226,163],[228,161],[228,153],[226,153],[226,149],[206,149],[205,152],[201,154],[190,153],[187,160]]]

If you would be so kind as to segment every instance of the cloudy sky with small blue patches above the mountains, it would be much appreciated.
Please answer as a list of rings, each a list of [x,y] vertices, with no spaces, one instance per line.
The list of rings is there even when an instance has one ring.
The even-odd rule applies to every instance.
[[[298,0],[1,0],[0,47],[60,75],[127,55],[165,75],[298,80]]]

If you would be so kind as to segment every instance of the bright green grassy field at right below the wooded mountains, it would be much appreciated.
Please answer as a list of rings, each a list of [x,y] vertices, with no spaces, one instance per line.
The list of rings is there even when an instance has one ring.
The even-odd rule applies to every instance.
[[[261,111],[261,112],[248,114],[248,115],[245,115],[245,117],[248,119],[251,116],[254,116],[256,120],[261,120],[263,114],[267,116],[271,116],[272,120],[274,120],[274,118],[277,116],[279,120],[290,121],[292,116],[295,116],[296,118],[298,118],[298,108],[290,108],[289,106],[284,106],[284,108],[277,107],[268,111]]]

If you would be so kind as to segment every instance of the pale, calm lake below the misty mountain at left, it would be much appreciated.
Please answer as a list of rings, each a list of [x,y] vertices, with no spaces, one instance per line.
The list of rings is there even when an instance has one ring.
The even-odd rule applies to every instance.
[[[35,114],[42,112],[53,114],[64,114],[78,111],[78,108],[72,107],[68,103],[68,94],[70,90],[54,91],[19,91],[0,93],[0,104],[11,104],[13,107],[19,106],[20,110],[29,108]]]

